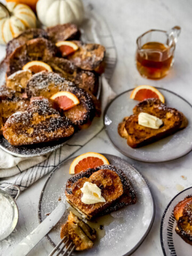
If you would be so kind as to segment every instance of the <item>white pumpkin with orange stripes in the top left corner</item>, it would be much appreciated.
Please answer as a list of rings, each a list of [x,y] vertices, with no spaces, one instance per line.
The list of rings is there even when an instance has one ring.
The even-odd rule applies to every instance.
[[[14,2],[9,2],[4,6],[0,3],[1,44],[6,44],[27,28],[34,27],[36,27],[36,16],[29,6]]]

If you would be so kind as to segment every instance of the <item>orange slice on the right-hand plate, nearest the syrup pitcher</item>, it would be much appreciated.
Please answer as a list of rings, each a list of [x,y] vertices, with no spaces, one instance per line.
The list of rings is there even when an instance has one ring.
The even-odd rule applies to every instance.
[[[165,98],[161,92],[159,92],[155,87],[150,85],[139,85],[137,86],[131,93],[130,96],[133,100],[145,100],[149,98],[157,98],[161,100],[163,103],[165,102]]]

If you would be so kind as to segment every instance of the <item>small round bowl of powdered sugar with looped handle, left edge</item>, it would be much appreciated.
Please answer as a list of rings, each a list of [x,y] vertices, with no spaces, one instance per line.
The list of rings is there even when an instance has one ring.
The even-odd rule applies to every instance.
[[[14,187],[18,190],[15,199],[5,191],[10,187]],[[9,236],[18,223],[19,211],[15,200],[18,198],[19,194],[20,188],[17,185],[9,185],[3,190],[0,189],[0,241]]]

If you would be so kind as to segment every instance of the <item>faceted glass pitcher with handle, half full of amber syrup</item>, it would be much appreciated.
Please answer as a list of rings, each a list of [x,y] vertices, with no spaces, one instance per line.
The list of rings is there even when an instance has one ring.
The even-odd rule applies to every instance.
[[[136,65],[141,76],[161,79],[174,62],[174,50],[181,33],[175,26],[169,31],[151,29],[137,38]]]

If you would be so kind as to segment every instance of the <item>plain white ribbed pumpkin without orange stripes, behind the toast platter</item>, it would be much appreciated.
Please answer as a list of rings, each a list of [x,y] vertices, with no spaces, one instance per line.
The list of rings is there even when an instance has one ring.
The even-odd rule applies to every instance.
[[[37,16],[46,27],[58,24],[81,24],[84,18],[82,0],[38,0]]]

